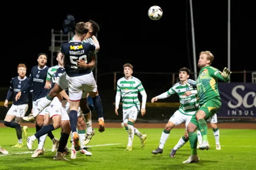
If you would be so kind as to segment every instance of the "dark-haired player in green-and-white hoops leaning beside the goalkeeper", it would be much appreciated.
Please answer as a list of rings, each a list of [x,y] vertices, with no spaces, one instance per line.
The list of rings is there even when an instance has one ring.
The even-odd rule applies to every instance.
[[[169,119],[168,123],[166,124],[161,138],[159,142],[158,148],[153,150],[152,154],[162,154],[164,144],[166,140],[168,139],[170,135],[170,131],[175,128],[175,126],[180,125],[181,123],[185,122],[185,126],[187,128],[188,124],[190,123],[190,119],[192,119],[192,116],[196,114],[196,111],[199,107],[199,101],[196,95],[196,90],[192,87],[189,87],[186,82],[189,83],[195,83],[195,81],[188,79],[190,75],[190,69],[183,67],[179,70],[179,78],[180,82],[173,85],[167,92],[162,93],[161,95],[158,95],[156,97],[153,97],[151,102],[154,103],[155,101],[158,101],[159,99],[165,99],[167,97],[170,97],[170,95],[178,94],[180,98],[180,107],[179,109],[172,115],[172,117]],[[190,97],[186,96],[186,93],[188,91],[191,91]],[[185,130],[184,136],[180,138],[176,146],[172,148],[170,157],[174,157],[176,154],[176,151],[184,146],[186,142],[188,142],[188,132]]]

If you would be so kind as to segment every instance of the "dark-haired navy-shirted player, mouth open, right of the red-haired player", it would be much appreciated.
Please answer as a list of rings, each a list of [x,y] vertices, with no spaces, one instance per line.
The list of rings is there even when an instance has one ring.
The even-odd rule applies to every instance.
[[[45,97],[50,90],[45,89],[45,83],[46,83],[46,77],[47,77],[47,71],[49,67],[46,66],[47,62],[47,55],[45,53],[38,54],[38,65],[32,67],[30,72],[30,77],[28,82],[24,85],[24,87],[20,90],[20,92],[16,95],[16,101],[20,100],[20,97],[24,94],[25,91],[30,89],[30,87],[33,85],[33,112],[36,111],[38,102]],[[36,132],[38,132],[44,123],[44,114],[46,113],[46,109],[40,113],[40,116],[36,119]],[[24,117],[22,118],[24,119]],[[48,136],[51,138],[53,145],[55,145],[55,138],[52,132],[48,134]],[[40,138],[42,141],[43,139]],[[38,148],[32,155],[32,157],[38,157],[40,154],[44,154],[44,142],[40,142],[38,139]],[[45,140],[45,139],[44,139]],[[40,144],[41,143],[41,144]],[[53,146],[55,147],[55,146]]]

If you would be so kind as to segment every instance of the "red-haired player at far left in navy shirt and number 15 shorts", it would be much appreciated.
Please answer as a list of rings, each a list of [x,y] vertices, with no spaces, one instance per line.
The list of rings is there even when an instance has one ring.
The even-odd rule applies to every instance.
[[[20,121],[22,117],[26,114],[28,110],[28,91],[25,91],[20,100],[16,101],[15,96],[16,94],[24,87],[24,85],[28,82],[28,78],[26,77],[26,70],[27,67],[25,64],[18,65],[18,77],[14,77],[11,80],[10,89],[7,93],[6,100],[4,102],[4,106],[8,107],[8,100],[13,95],[12,106],[8,110],[6,117],[4,119],[4,125],[6,127],[11,127],[16,129],[16,134],[18,137],[18,143],[12,147],[14,148],[21,148],[23,145],[22,143],[22,131],[24,133],[24,138],[27,138],[27,126],[21,128]],[[30,92],[33,90],[30,89]]]

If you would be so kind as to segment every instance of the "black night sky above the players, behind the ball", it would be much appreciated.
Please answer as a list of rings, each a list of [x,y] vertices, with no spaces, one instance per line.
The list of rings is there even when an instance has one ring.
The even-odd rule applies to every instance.
[[[252,26],[256,23],[253,6],[249,1],[231,1],[231,70],[256,70],[255,62],[252,62],[256,57],[253,52],[256,35]],[[27,65],[29,75],[32,66],[37,65],[38,53],[45,52],[50,56],[51,29],[60,30],[68,12],[75,16],[76,22],[92,19],[100,25],[99,75],[122,71],[124,63],[134,65],[134,71],[177,72],[181,67],[189,67],[193,71],[189,4],[186,0],[158,2],[146,2],[143,6],[131,2],[102,4],[102,7],[90,4],[78,6],[81,10],[38,5],[40,7],[34,6],[29,10],[15,10],[17,20],[14,21],[10,15],[11,18],[4,19],[8,26],[2,40],[4,38],[9,45],[4,49],[2,46],[2,62],[9,63],[10,69],[3,75],[1,86],[8,87],[10,79],[17,76],[19,63]],[[153,5],[163,10],[163,17],[158,21],[150,20],[147,15]],[[222,70],[228,65],[228,1],[194,0],[193,11],[196,60],[200,51],[209,50],[215,55],[212,66]],[[7,67],[4,63],[2,67]],[[47,65],[50,66],[50,58]]]

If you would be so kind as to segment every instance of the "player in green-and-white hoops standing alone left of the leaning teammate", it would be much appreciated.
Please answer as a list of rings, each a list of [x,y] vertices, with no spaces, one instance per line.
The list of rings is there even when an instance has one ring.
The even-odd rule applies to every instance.
[[[132,150],[134,134],[140,138],[140,146],[142,148],[146,143],[147,135],[140,133],[140,131],[134,127],[134,123],[136,122],[139,111],[142,116],[146,113],[147,94],[141,81],[132,76],[133,66],[130,63],[126,63],[123,67],[125,76],[117,81],[115,113],[118,115],[120,98],[122,97],[123,123],[126,131],[128,132],[128,144],[126,150]],[[142,95],[141,110],[138,92]]]

